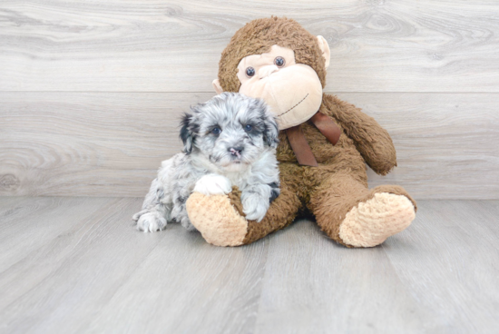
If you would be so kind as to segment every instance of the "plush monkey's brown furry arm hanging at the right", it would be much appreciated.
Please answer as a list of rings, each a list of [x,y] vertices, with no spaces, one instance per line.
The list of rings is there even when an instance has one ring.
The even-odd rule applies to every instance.
[[[349,138],[367,165],[380,175],[386,175],[396,166],[395,146],[390,135],[374,118],[362,113],[355,105],[338,97],[324,94],[320,112],[332,116]]]

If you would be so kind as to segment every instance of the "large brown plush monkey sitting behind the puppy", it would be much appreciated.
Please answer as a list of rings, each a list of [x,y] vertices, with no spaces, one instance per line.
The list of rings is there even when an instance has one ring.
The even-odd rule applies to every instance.
[[[366,163],[385,175],[396,166],[393,142],[373,118],[334,95],[323,94],[328,43],[296,21],[249,22],[220,59],[217,93],[261,97],[281,131],[281,192],[263,221],[246,221],[240,192],[187,201],[192,224],[218,246],[257,241],[311,212],[318,226],[347,247],[373,247],[403,231],[415,218],[416,201],[395,185],[367,188]]]

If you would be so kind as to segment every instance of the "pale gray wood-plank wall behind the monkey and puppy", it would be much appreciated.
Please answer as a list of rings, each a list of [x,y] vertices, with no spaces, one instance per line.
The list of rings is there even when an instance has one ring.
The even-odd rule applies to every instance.
[[[392,135],[416,199],[499,198],[497,1],[0,3],[0,195],[142,196],[214,95],[220,53],[286,15],[331,48],[326,92]]]

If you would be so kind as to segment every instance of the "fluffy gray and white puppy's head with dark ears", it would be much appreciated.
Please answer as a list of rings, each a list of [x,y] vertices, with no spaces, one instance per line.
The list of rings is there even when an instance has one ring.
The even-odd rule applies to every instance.
[[[240,171],[276,148],[278,124],[263,100],[221,93],[191,107],[181,122],[184,152],[201,154],[225,171]]]

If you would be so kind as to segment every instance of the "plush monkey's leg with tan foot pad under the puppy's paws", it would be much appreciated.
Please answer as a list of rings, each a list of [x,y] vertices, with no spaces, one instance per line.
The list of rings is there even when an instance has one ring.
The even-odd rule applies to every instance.
[[[293,181],[295,182],[295,181]],[[187,200],[191,223],[203,238],[215,246],[240,246],[257,241],[270,232],[288,226],[301,207],[296,191],[281,177],[280,194],[270,203],[262,221],[247,221],[242,212],[240,191],[228,195],[206,196],[193,192]]]

